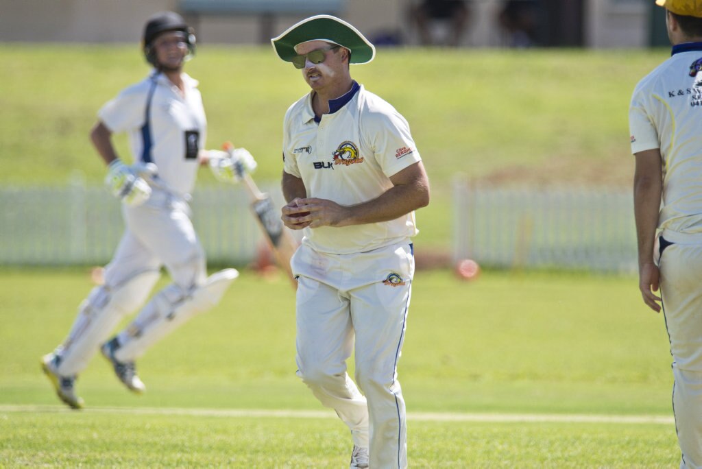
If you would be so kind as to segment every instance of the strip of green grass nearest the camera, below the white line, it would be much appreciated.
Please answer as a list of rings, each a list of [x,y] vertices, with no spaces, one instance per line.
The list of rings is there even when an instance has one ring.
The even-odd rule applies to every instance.
[[[0,414],[5,416],[5,414]],[[12,425],[11,432],[8,432]],[[44,411],[0,423],[3,465],[343,468],[331,419]],[[673,435],[671,436],[671,432]],[[415,468],[677,467],[673,425],[409,423]],[[8,438],[8,434],[10,435]]]

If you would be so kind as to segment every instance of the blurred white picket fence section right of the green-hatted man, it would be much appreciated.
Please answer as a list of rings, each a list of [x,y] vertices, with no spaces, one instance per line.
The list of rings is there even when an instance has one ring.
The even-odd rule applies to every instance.
[[[633,196],[453,183],[453,258],[509,268],[635,272]]]

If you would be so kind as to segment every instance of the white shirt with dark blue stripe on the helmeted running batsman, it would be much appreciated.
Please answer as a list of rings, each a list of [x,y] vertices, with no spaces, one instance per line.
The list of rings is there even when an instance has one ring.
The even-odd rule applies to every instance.
[[[154,71],[98,112],[110,131],[128,134],[134,161],[156,164],[158,179],[181,196],[193,190],[199,167],[197,151],[204,146],[207,132],[198,82],[185,73],[183,82],[185,96],[164,74]]]

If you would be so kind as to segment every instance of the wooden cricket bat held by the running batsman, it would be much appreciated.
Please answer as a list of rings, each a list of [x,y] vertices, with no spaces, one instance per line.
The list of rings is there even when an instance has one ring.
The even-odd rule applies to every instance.
[[[226,142],[222,147],[225,152],[234,150],[234,145],[231,142]],[[293,285],[297,286],[290,267],[290,258],[298,249],[298,242],[285,229],[285,225],[280,219],[280,210],[273,204],[270,195],[260,192],[249,173],[244,172],[241,179],[244,187],[246,187],[246,192],[251,197],[251,210],[256,217],[256,221],[258,221],[258,225],[263,230],[264,237],[276,263],[287,273]]]

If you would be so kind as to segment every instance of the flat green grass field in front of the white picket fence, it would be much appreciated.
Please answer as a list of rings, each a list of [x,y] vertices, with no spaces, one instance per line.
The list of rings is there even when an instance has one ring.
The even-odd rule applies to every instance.
[[[88,410],[69,411],[39,357],[62,341],[90,288],[87,270],[0,270],[0,465],[346,463],[345,426],[294,374],[293,291],[284,279],[243,272],[218,308],[143,358],[143,396],[95,357],[77,383]],[[399,377],[414,467],[675,465],[665,327],[640,304],[635,279],[482,272],[460,282],[419,272],[408,324]],[[256,418],[232,409],[322,414]],[[498,418],[512,414],[567,421]]]

